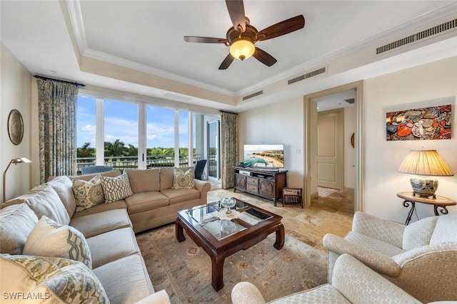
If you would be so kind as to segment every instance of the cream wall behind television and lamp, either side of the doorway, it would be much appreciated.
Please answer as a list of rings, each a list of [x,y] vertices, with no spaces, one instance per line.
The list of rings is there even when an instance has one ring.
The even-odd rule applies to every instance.
[[[416,68],[401,70],[363,83],[363,157],[364,204],[367,213],[403,223],[408,209],[402,206],[397,192],[411,189],[409,177],[397,172],[403,157],[413,149],[436,149],[457,174],[457,58],[448,58],[428,63]],[[445,98],[443,101],[442,98]],[[452,140],[423,141],[386,141],[386,110],[403,110],[412,107],[425,107],[452,103],[453,138]],[[398,109],[396,109],[397,107]],[[350,111],[350,110],[348,110]],[[351,118],[353,117],[353,118]],[[242,112],[239,115],[239,147],[244,143],[283,142],[286,144],[286,168],[288,187],[303,187],[303,100],[297,98],[263,108]],[[345,141],[348,142],[355,121],[355,113],[345,113]],[[296,150],[301,154],[296,154]],[[345,187],[351,187],[351,164],[354,155],[346,149]],[[352,162],[352,163],[351,163]],[[457,200],[457,176],[440,177],[438,195]],[[353,186],[352,186],[353,187]],[[312,188],[312,187],[311,187]],[[448,208],[457,213],[457,206]],[[417,206],[419,219],[433,215],[432,206]],[[414,221],[414,219],[412,219]]]

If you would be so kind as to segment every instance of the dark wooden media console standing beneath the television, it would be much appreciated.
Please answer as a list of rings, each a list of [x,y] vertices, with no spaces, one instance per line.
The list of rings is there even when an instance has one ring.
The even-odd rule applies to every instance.
[[[233,172],[235,173],[233,192],[238,189],[265,199],[272,199],[275,206],[276,199],[282,198],[282,190],[287,184],[287,170],[233,167]]]

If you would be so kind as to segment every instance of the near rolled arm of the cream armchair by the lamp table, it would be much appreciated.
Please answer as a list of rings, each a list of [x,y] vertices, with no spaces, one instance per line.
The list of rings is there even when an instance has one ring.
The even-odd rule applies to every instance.
[[[322,243],[328,251],[333,251],[339,255],[348,253],[378,273],[392,277],[400,275],[401,267],[391,257],[366,250],[334,234],[326,234],[323,237]]]

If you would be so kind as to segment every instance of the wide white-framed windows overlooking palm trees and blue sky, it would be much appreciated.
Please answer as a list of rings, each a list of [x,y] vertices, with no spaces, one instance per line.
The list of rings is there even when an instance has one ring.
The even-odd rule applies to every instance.
[[[187,167],[207,159],[204,114],[80,94],[79,167]]]

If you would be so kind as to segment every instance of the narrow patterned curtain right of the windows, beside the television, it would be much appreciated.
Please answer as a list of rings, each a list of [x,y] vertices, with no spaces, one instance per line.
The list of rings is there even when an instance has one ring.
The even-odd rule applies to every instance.
[[[238,162],[238,115],[222,112],[221,115],[221,187],[235,186],[233,166]]]

